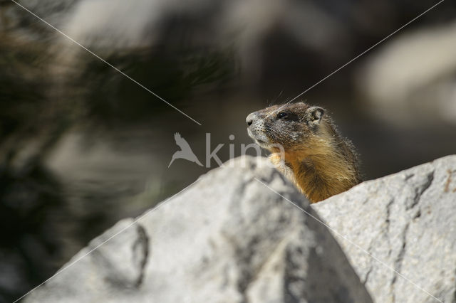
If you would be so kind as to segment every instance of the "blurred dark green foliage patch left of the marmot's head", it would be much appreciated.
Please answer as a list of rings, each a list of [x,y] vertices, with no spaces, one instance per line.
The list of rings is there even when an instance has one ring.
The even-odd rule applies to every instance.
[[[177,107],[189,106],[196,90],[223,88],[237,75],[232,50],[157,47],[113,54],[106,60]],[[84,87],[83,107],[97,122],[141,122],[170,110],[165,102],[96,58],[76,77],[76,85]]]

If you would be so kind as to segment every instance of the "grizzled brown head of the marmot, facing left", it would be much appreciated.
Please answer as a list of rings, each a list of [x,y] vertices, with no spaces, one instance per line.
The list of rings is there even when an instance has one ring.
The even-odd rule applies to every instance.
[[[310,138],[315,138],[326,118],[321,107],[304,102],[273,105],[247,116],[247,132],[264,149],[276,151],[273,144],[285,151],[306,148]]]

